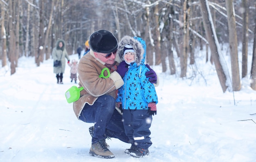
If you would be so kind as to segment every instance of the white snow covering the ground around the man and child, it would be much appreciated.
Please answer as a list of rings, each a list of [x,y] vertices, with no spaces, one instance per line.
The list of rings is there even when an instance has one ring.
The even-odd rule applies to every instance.
[[[196,53],[187,79],[151,66],[160,79],[159,103],[150,128],[153,144],[144,158],[124,153],[130,144],[115,138],[106,140],[115,158],[89,155],[88,128],[93,124],[77,120],[64,95],[77,85],[70,82],[69,66],[63,85],[56,83],[52,59],[36,67],[34,57],[21,57],[11,76],[9,68],[0,68],[0,161],[254,162],[256,92],[249,75],[241,80],[240,91],[223,93],[214,65],[205,63],[204,51]],[[70,55],[71,60],[77,58]],[[248,60],[249,72],[251,54]]]

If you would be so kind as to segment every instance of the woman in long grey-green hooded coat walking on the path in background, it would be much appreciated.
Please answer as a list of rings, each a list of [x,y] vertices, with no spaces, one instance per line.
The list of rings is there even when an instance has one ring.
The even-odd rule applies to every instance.
[[[60,61],[60,65],[53,68],[53,72],[56,74],[57,83],[63,84],[63,73],[65,72],[65,58],[67,58],[67,63],[69,63],[70,58],[67,54],[65,48],[65,41],[63,39],[58,39],[56,42],[56,47],[52,50],[52,58],[54,61]]]

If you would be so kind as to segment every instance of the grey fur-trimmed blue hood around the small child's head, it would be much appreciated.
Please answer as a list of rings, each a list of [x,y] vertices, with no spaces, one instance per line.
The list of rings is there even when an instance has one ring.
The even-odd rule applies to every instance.
[[[124,61],[124,46],[129,44],[135,51],[135,63],[137,66],[145,62],[146,58],[146,43],[140,37],[130,37],[128,35],[124,36],[118,44],[117,55]]]

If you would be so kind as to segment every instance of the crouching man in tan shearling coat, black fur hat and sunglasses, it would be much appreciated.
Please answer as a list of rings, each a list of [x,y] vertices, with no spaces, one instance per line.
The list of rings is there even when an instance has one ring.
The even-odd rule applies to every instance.
[[[119,73],[116,71],[117,39],[110,31],[99,30],[92,33],[89,45],[90,52],[80,59],[78,65],[79,86],[83,86],[84,90],[81,91],[79,100],[73,103],[73,109],[79,120],[95,123],[89,129],[92,136],[90,155],[114,158],[115,155],[108,149],[105,139],[112,137],[129,143],[122,116],[115,108],[117,90],[124,84],[119,73],[123,75],[128,68],[122,68]],[[156,78],[152,71],[149,76],[152,77],[153,74],[152,78]]]

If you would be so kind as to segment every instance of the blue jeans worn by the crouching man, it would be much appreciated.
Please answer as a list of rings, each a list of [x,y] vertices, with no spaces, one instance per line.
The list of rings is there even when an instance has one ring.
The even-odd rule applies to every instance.
[[[115,99],[110,95],[100,96],[93,105],[86,103],[79,119],[85,123],[95,123],[92,144],[107,137],[129,142],[124,131],[123,118],[115,109]]]

